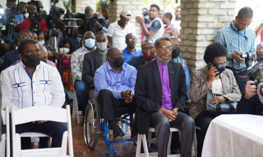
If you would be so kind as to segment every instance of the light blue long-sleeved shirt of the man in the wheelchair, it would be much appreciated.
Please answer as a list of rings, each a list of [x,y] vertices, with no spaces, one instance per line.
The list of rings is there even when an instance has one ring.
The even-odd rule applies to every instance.
[[[103,63],[103,65],[95,71],[94,76],[97,95],[101,89],[108,89],[113,93],[113,97],[123,99],[121,97],[122,91],[134,91],[136,76],[137,70],[127,63],[122,65],[122,71],[120,73],[116,73],[116,71],[111,68],[109,62]]]

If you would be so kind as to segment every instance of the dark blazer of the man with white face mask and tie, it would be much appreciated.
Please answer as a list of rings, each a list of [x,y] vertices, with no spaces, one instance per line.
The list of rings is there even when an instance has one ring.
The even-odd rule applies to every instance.
[[[94,88],[95,71],[101,65],[100,54],[95,49],[94,51],[85,53],[82,64],[82,81],[85,82],[85,94],[89,94],[90,89]]]

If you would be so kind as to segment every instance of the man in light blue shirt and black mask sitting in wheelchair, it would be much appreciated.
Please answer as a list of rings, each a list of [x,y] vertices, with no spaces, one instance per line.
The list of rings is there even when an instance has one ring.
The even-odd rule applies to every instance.
[[[108,62],[95,71],[94,85],[102,108],[102,118],[108,120],[113,129],[113,141],[122,140],[121,131],[116,124],[115,109],[125,107],[125,113],[134,113],[136,101],[133,99],[137,70],[124,63],[123,53],[117,47],[107,52]],[[131,138],[137,138],[136,124]]]

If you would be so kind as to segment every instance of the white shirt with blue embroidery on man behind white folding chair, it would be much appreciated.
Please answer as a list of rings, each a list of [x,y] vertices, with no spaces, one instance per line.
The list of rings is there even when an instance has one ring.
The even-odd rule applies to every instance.
[[[31,77],[22,61],[4,69],[0,75],[2,105],[21,109],[31,106],[61,108],[65,93],[59,71],[44,62],[36,67]]]

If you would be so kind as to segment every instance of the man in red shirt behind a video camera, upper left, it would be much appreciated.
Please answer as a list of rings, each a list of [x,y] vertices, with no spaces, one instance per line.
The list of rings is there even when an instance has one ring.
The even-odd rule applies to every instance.
[[[30,21],[29,19],[33,19],[34,18],[38,18],[36,17],[36,10],[37,8],[33,5],[33,4],[29,4],[27,6],[27,13],[29,14],[28,18],[25,19],[19,26],[19,31],[22,31],[23,29],[33,29],[32,28],[32,21]],[[35,17],[33,17],[35,16]],[[38,19],[39,20],[39,19]],[[42,30],[44,32],[48,32],[47,26],[46,26],[46,21],[41,20],[40,23],[38,23],[38,30]]]

